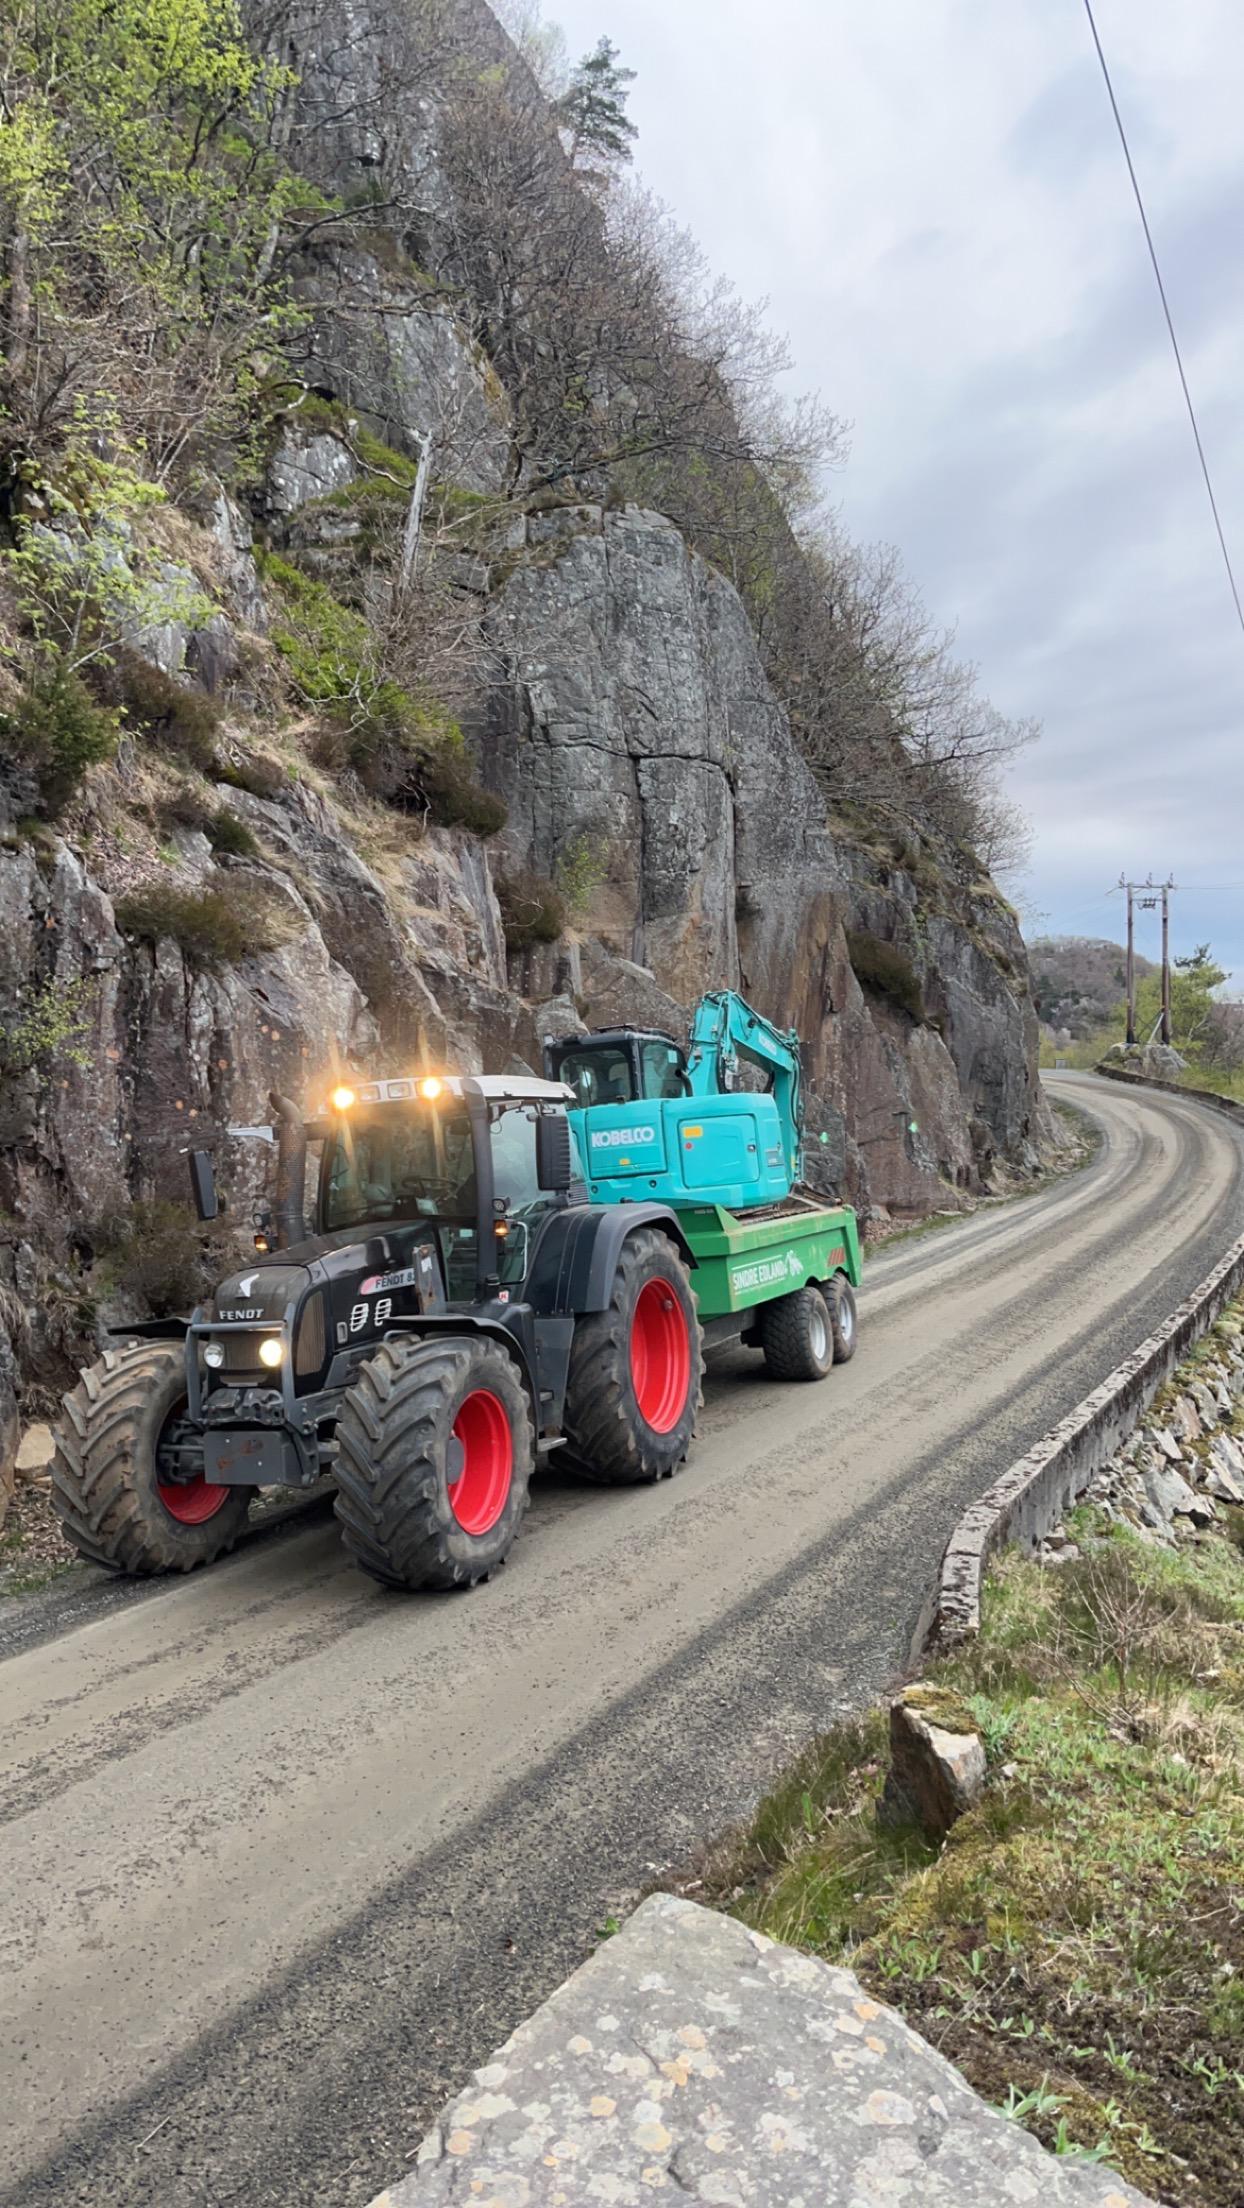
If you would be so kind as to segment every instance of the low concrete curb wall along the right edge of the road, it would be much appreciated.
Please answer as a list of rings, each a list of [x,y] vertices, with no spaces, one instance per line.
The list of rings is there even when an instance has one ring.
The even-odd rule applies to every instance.
[[[1105,1069],[1100,1069],[1105,1071]],[[1231,1097],[1151,1082],[1136,1073],[1109,1073],[1129,1089],[1162,1089],[1169,1095],[1215,1104],[1244,1122],[1244,1106]],[[930,1652],[950,1649],[981,1627],[981,1581],[985,1563],[1008,1541],[1034,1548],[1085,1493],[1096,1471],[1138,1424],[1153,1395],[1206,1334],[1224,1305],[1244,1287],[1244,1236],[1231,1245],[1206,1281],[1151,1334],[1085,1402],[1019,1457],[992,1488],[963,1512],[946,1552],[928,1627]]]

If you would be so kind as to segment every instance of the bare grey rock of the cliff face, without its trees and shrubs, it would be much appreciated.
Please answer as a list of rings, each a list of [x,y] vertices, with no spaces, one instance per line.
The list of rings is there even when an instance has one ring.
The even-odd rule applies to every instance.
[[[356,88],[380,71],[354,137],[318,139],[340,177],[380,159],[387,49],[376,11],[323,13],[331,51],[316,18],[298,55],[307,113],[329,110],[342,71]],[[433,115],[404,117],[400,159],[435,214]],[[411,426],[431,428],[442,475],[495,490],[513,424],[444,302],[358,247],[307,287],[318,389],[407,450]],[[358,534],[331,503],[358,475],[340,424],[287,428],[247,506],[221,490],[183,517],[214,618],[135,638],[214,691],[199,821],[219,808],[241,835],[223,846],[186,804],[177,819],[183,766],[133,740],[55,830],[20,824],[20,762],[0,777],[0,1457],[11,1349],[55,1384],[99,1298],[139,1292],[102,1252],[124,1245],[135,1201],[181,1197],[190,1144],[214,1148],[236,1197],[256,1190],[263,1153],[225,1130],[263,1122],[272,1086],[314,1104],[349,1066],[537,1066],[550,1027],[681,1029],[700,989],[731,985],[807,1038],[815,1177],[862,1208],[919,1214],[1036,1164],[1036,1020],[1010,910],[966,854],[833,810],[740,598],[661,514],[517,501],[504,537],[446,561],[486,651],[466,733],[508,808],[497,837],[426,826],[314,764],[278,696],[252,526],[323,570]],[[497,883],[515,879],[557,885],[557,941],[506,947]],[[117,901],[152,883],[243,914],[245,938],[221,956],[119,927]],[[40,1005],[51,1040],[31,1033]]]

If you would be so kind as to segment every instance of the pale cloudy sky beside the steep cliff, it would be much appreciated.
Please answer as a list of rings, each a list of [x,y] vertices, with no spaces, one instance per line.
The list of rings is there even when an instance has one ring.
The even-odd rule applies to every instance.
[[[1244,7],[1094,11],[1244,594]],[[1041,720],[1027,932],[1118,938],[1120,870],[1173,872],[1244,987],[1244,634],[1083,0],[546,15],[621,49],[639,174],[851,424],[848,532]]]

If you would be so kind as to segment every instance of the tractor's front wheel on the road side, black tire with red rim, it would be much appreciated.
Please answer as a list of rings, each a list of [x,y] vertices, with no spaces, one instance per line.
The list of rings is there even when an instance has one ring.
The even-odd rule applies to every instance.
[[[506,1561],[528,1506],[535,1431],[515,1360],[497,1342],[382,1342],[345,1393],[336,1437],[340,1537],[371,1579],[473,1588]]]

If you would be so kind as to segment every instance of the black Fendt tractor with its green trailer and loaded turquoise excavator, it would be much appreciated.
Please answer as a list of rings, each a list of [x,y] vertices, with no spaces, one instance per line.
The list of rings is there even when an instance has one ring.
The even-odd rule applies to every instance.
[[[566,1080],[358,1082],[309,1122],[274,1095],[276,1219],[256,1214],[254,1261],[190,1318],[117,1329],[64,1400],[71,1541],[117,1572],[192,1570],[232,1548],[256,1490],[331,1475],[365,1572],[475,1585],[515,1541],[539,1455],[566,1446],[603,1486],[685,1462],[705,1345],[756,1342],[776,1373],[820,1378],[855,1342],[860,1245],[853,1212],[793,1192],[798,1047],[778,1040],[793,1073],[753,1058],[787,1084],[771,1095],[716,1093],[749,1053],[725,1031],[689,1060],[670,1038],[592,1036],[561,1047],[581,1060]],[[614,1051],[621,1122],[594,1086]],[[217,1219],[205,1150],[190,1179]]]

